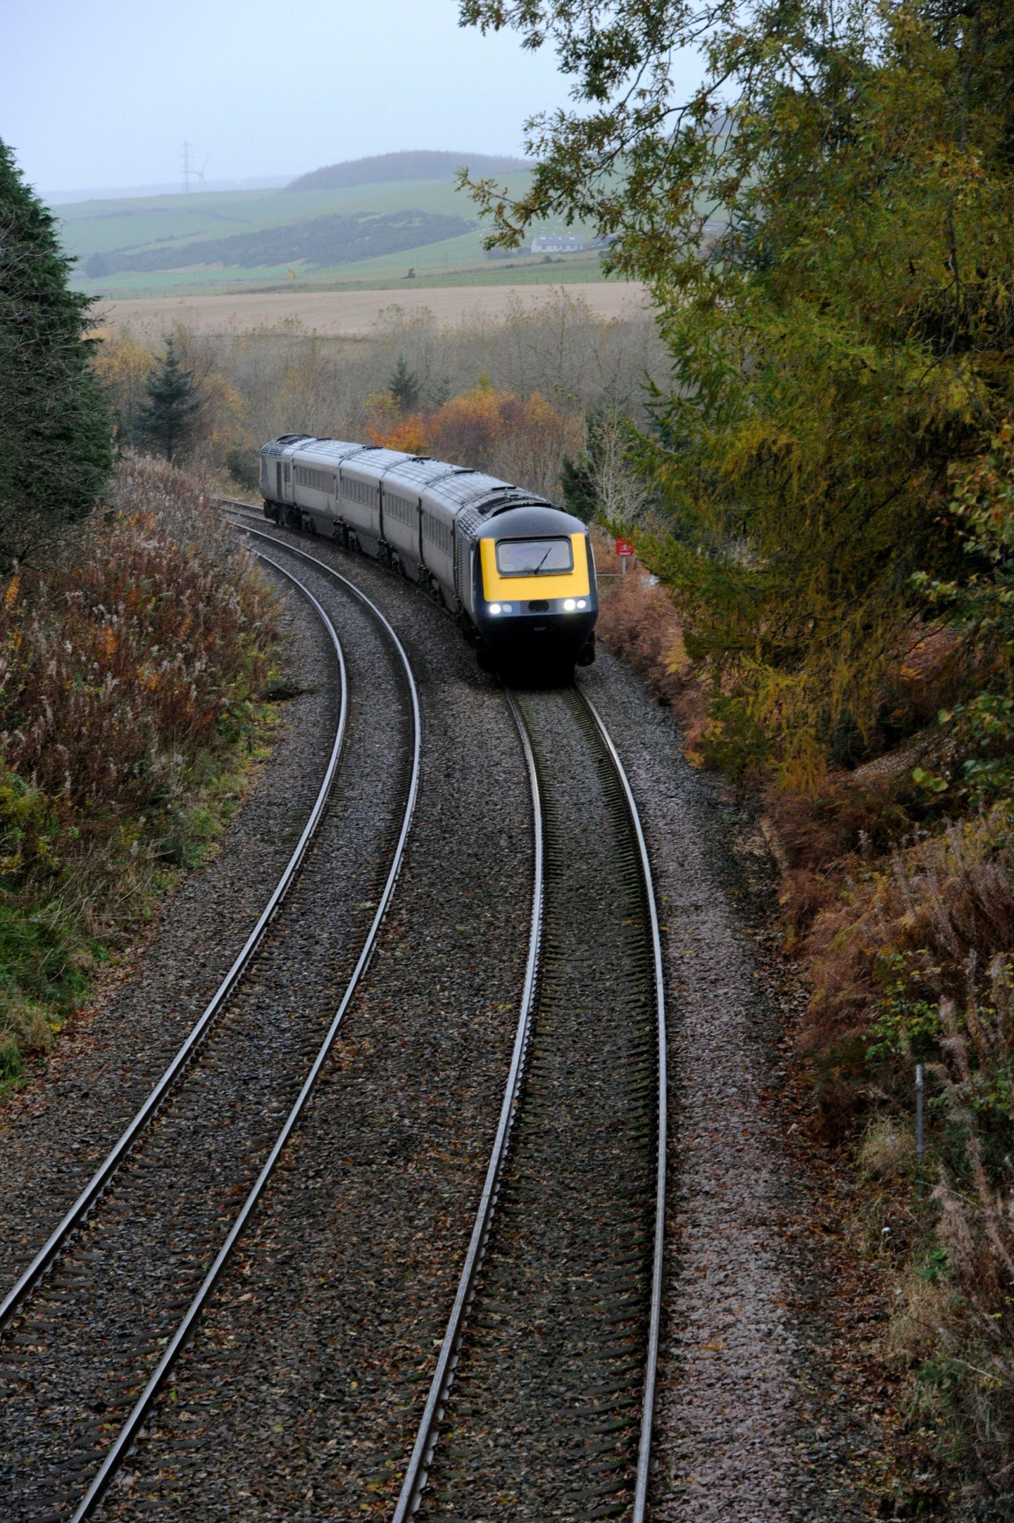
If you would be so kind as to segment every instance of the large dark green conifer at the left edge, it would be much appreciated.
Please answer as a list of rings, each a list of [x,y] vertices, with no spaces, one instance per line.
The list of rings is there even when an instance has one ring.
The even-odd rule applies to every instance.
[[[113,466],[87,338],[91,302],[52,212],[0,142],[0,570],[85,518]]]

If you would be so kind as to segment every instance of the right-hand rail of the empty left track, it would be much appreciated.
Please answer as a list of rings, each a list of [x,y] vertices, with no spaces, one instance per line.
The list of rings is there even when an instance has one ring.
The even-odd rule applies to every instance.
[[[244,533],[256,535],[258,532],[256,530],[244,530]],[[270,535],[259,535],[258,538],[270,539],[271,536]],[[288,1115],[285,1118],[285,1122],[282,1124],[282,1129],[281,1129],[281,1132],[279,1132],[279,1135],[278,1135],[278,1138],[274,1141],[274,1145],[273,1145],[273,1148],[271,1148],[271,1151],[270,1151],[270,1154],[268,1154],[264,1167],[261,1168],[261,1173],[258,1174],[258,1179],[256,1179],[253,1188],[250,1189],[250,1193],[249,1193],[247,1199],[244,1200],[242,1206],[239,1208],[239,1212],[238,1212],[238,1215],[236,1215],[236,1218],[235,1218],[235,1221],[233,1221],[233,1224],[232,1224],[232,1228],[229,1231],[229,1235],[227,1235],[226,1241],[223,1243],[221,1249],[218,1250],[218,1256],[215,1258],[215,1263],[207,1270],[207,1275],[204,1276],[204,1279],[203,1279],[203,1282],[201,1282],[197,1295],[194,1296],[194,1299],[191,1301],[186,1313],[183,1314],[183,1319],[181,1319],[180,1325],[177,1327],[175,1333],[172,1334],[172,1339],[166,1345],[165,1354],[159,1360],[159,1365],[156,1366],[156,1369],[154,1369],[151,1378],[148,1380],[148,1384],[145,1386],[143,1392],[137,1398],[137,1403],[133,1407],[130,1416],[124,1422],[124,1427],[120,1429],[120,1432],[117,1433],[116,1439],[113,1441],[113,1444],[107,1450],[105,1458],[102,1461],[102,1465],[101,1465],[99,1471],[96,1473],[95,1479],[91,1480],[91,1485],[88,1486],[87,1493],[84,1494],[82,1500],[79,1502],[76,1511],[72,1514],[70,1523],[84,1523],[85,1518],[91,1517],[95,1508],[102,1500],[105,1491],[108,1489],[108,1486],[110,1486],[110,1483],[113,1480],[113,1476],[116,1474],[116,1471],[119,1470],[120,1464],[124,1462],[124,1459],[130,1453],[131,1445],[136,1442],[136,1439],[137,1439],[137,1436],[140,1433],[140,1429],[143,1427],[145,1418],[148,1416],[148,1412],[151,1410],[151,1406],[156,1401],[156,1397],[159,1395],[159,1390],[165,1384],[166,1377],[169,1375],[169,1371],[172,1369],[175,1360],[178,1359],[180,1351],[183,1349],[183,1346],[189,1340],[191,1334],[194,1333],[195,1323],[197,1323],[201,1311],[204,1310],[204,1305],[207,1304],[212,1292],[215,1290],[215,1285],[217,1285],[217,1282],[218,1282],[218,1279],[220,1279],[220,1276],[221,1276],[226,1264],[229,1263],[229,1258],[232,1256],[232,1252],[233,1252],[233,1249],[235,1249],[235,1246],[236,1246],[236,1243],[238,1243],[238,1240],[239,1240],[239,1237],[241,1237],[241,1234],[242,1234],[247,1221],[250,1220],[250,1215],[253,1214],[253,1211],[256,1208],[256,1203],[258,1203],[261,1194],[264,1193],[264,1188],[265,1188],[268,1179],[274,1173],[274,1167],[278,1164],[278,1159],[281,1157],[281,1153],[282,1153],[285,1144],[288,1142],[288,1139],[290,1139],[290,1136],[291,1136],[291,1133],[293,1133],[293,1130],[296,1127],[296,1122],[299,1121],[299,1116],[300,1116],[300,1113],[302,1113],[306,1101],[310,1100],[310,1095],[313,1094],[313,1090],[314,1090],[314,1087],[317,1084],[317,1078],[320,1075],[320,1071],[322,1071],[322,1068],[325,1065],[325,1060],[326,1060],[326,1057],[328,1057],[328,1054],[329,1054],[329,1051],[331,1051],[331,1048],[334,1045],[334,1040],[335,1040],[335,1037],[339,1034],[342,1022],[345,1020],[345,1014],[346,1014],[346,1011],[349,1008],[349,1004],[352,1002],[352,996],[355,995],[355,990],[357,990],[357,987],[360,984],[360,979],[363,978],[363,973],[369,967],[371,958],[374,955],[374,947],[377,944],[377,937],[380,934],[381,923],[384,920],[384,915],[387,914],[387,906],[390,905],[390,899],[392,899],[392,894],[395,891],[395,883],[398,882],[398,874],[401,871],[401,862],[403,862],[406,844],[407,844],[407,839],[409,839],[409,830],[412,827],[412,818],[415,815],[415,806],[416,806],[416,798],[418,798],[418,792],[419,792],[419,765],[421,765],[421,754],[422,754],[422,719],[421,719],[421,711],[419,711],[419,694],[418,694],[415,676],[412,673],[412,667],[409,664],[409,658],[406,655],[404,646],[401,644],[401,640],[395,634],[395,631],[390,626],[390,623],[387,621],[387,618],[375,606],[375,603],[372,603],[372,600],[364,592],[361,592],[352,582],[348,582],[348,579],[343,577],[339,571],[332,571],[331,567],[326,567],[322,560],[317,560],[314,556],[308,556],[305,551],[296,550],[294,547],[281,545],[279,548],[284,548],[285,553],[288,553],[288,554],[296,554],[296,556],[300,556],[303,560],[313,562],[313,565],[316,565],[320,571],[325,571],[332,579],[345,583],[345,586],[348,586],[352,592],[355,592],[355,595],[366,605],[366,608],[369,608],[371,612],[375,614],[377,620],[384,627],[384,631],[387,632],[387,635],[390,637],[390,640],[393,643],[393,647],[395,647],[395,650],[398,653],[398,658],[401,661],[401,667],[404,670],[404,676],[406,676],[406,684],[407,684],[407,688],[409,688],[409,694],[412,698],[412,731],[413,731],[413,737],[412,737],[412,771],[410,771],[410,778],[409,778],[409,790],[407,790],[407,798],[406,798],[404,816],[403,816],[403,822],[401,822],[401,832],[398,835],[398,844],[395,847],[393,860],[390,864],[390,870],[387,873],[387,879],[384,882],[384,888],[381,891],[381,896],[380,896],[380,900],[378,900],[378,905],[377,905],[377,911],[375,911],[374,918],[371,921],[371,928],[369,928],[369,931],[366,934],[366,940],[363,943],[363,949],[360,952],[358,961],[357,961],[357,964],[355,964],[355,967],[352,970],[352,976],[349,978],[349,982],[348,982],[348,985],[345,988],[345,995],[342,996],[342,1004],[339,1005],[337,1013],[335,1013],[334,1019],[331,1020],[331,1025],[328,1027],[328,1033],[326,1033],[323,1042],[320,1043],[317,1055],[316,1055],[316,1058],[313,1062],[313,1066],[311,1066],[311,1069],[310,1069],[310,1072],[308,1072],[308,1075],[306,1075],[306,1078],[303,1081],[303,1086],[302,1086],[302,1089],[300,1089],[300,1092],[299,1092],[299,1095],[296,1098],[296,1103],[293,1104],[291,1110],[288,1112]],[[258,551],[258,554],[261,554],[261,551]],[[262,556],[262,559],[270,560],[270,556]],[[291,577],[291,573],[284,573],[284,574]],[[294,580],[294,577],[291,577],[291,579]],[[308,594],[308,595],[311,595],[311,594]]]

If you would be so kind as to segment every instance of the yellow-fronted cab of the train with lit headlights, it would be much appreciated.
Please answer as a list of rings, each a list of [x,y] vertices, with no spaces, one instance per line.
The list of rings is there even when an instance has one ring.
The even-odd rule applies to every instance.
[[[595,658],[598,594],[586,525],[555,507],[494,513],[479,530],[474,623],[483,666],[569,675]]]

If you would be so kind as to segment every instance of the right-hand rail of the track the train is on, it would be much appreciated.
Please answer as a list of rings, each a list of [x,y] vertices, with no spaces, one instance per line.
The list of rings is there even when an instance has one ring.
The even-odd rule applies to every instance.
[[[576,684],[575,684],[576,687]],[[648,1479],[651,1470],[651,1433],[654,1422],[654,1387],[659,1371],[659,1337],[662,1330],[662,1288],[665,1275],[665,1176],[666,1176],[666,1130],[668,1130],[668,1101],[666,1101],[666,1034],[665,1034],[665,972],[662,966],[662,938],[659,935],[659,906],[654,897],[654,882],[651,876],[651,857],[648,856],[648,842],[645,841],[645,833],[640,825],[640,815],[637,813],[637,804],[634,801],[634,792],[630,786],[630,778],[627,777],[627,769],[619,758],[619,752],[613,745],[613,737],[605,728],[605,722],[599,714],[598,708],[582,688],[576,688],[581,702],[587,708],[592,720],[599,733],[602,745],[605,746],[616,777],[621,781],[624,797],[627,800],[627,809],[630,810],[630,822],[637,841],[637,856],[640,859],[640,873],[643,879],[645,903],[648,908],[648,923],[651,928],[651,952],[654,964],[654,988],[656,988],[656,1013],[657,1013],[657,1036],[659,1036],[659,1112],[657,1112],[657,1159],[656,1159],[656,1221],[654,1221],[654,1258],[651,1266],[651,1308],[648,1314],[648,1348],[645,1354],[645,1387],[643,1401],[640,1409],[640,1439],[637,1444],[637,1480],[634,1486],[634,1506],[633,1506],[633,1523],[643,1523],[647,1508],[648,1508]]]

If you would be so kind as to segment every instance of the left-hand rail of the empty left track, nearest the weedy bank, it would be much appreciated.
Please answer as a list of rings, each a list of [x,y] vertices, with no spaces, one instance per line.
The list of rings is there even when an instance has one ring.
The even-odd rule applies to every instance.
[[[136,1112],[127,1130],[122,1133],[114,1147],[108,1151],[102,1164],[99,1164],[98,1170],[95,1171],[85,1188],[81,1191],[78,1199],[69,1208],[69,1211],[66,1212],[59,1224],[53,1229],[44,1246],[38,1250],[32,1263],[18,1276],[15,1284],[11,1287],[11,1290],[0,1302],[0,1334],[11,1323],[17,1311],[24,1305],[27,1298],[38,1285],[40,1279],[52,1267],[55,1258],[66,1244],[67,1238],[82,1224],[82,1221],[98,1202],[99,1196],[104,1193],[104,1189],[116,1174],[124,1159],[130,1154],[131,1148],[134,1147],[140,1135],[148,1129],[148,1125],[151,1125],[157,1112],[162,1109],[162,1104],[165,1103],[168,1094],[172,1090],[175,1083],[183,1075],[191,1058],[194,1057],[194,1052],[207,1036],[210,1027],[221,1014],[229,996],[232,995],[239,979],[245,973],[247,967],[250,966],[250,961],[253,959],[261,941],[264,940],[264,934],[270,921],[273,920],[279,905],[282,903],[288,889],[291,888],[296,873],[299,871],[299,867],[306,854],[310,841],[316,835],[320,819],[323,818],[328,793],[331,790],[335,771],[339,768],[342,751],[345,748],[345,733],[346,733],[348,708],[349,708],[345,653],[342,650],[342,643],[339,641],[339,635],[334,624],[331,623],[331,620],[328,618],[328,615],[325,614],[323,608],[313,595],[313,592],[310,592],[310,589],[305,588],[302,582],[299,582],[294,576],[291,576],[291,573],[285,571],[284,567],[278,565],[276,560],[271,560],[270,556],[261,556],[261,559],[273,565],[287,580],[293,582],[294,586],[297,586],[299,591],[308,599],[308,602],[323,621],[323,626],[328,631],[331,644],[337,656],[339,675],[340,675],[339,723],[335,728],[334,745],[331,746],[331,755],[328,758],[328,766],[325,769],[323,781],[320,783],[320,789],[317,790],[313,809],[306,816],[306,824],[303,825],[302,835],[296,842],[296,848],[290,856],[288,862],[285,864],[282,876],[279,877],[271,897],[261,911],[261,915],[258,917],[258,921],[250,935],[247,937],[239,955],[235,958],[232,967],[229,969],[224,979],[212,995],[210,1002],[206,1005],[203,1014],[192,1027],[189,1036],[186,1037],[178,1052],[163,1072],[162,1078],[157,1081],[157,1084],[154,1086],[145,1103]]]

